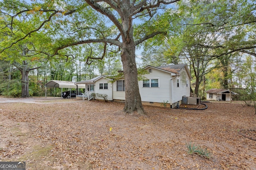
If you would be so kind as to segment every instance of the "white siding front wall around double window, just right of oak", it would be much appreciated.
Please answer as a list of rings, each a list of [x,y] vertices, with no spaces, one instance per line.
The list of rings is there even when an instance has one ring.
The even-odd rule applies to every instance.
[[[139,81],[140,97],[142,102],[166,102],[170,103],[170,80],[171,74],[155,68],[145,74],[146,79],[158,79],[158,87],[143,87],[143,81]]]

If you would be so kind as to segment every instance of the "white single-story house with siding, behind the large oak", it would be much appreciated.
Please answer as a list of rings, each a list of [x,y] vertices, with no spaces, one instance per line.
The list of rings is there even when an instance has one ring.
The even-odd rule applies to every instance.
[[[167,66],[146,66],[148,74],[144,74],[144,80],[139,80],[139,90],[144,105],[162,106],[174,108],[182,101],[182,96],[190,96],[190,80],[192,76],[187,64],[175,64]],[[91,80],[75,82],[85,84],[84,97],[90,100],[92,93],[107,95],[107,100],[124,102],[124,79],[114,80],[108,76],[98,76]],[[99,97],[98,99],[103,99]]]

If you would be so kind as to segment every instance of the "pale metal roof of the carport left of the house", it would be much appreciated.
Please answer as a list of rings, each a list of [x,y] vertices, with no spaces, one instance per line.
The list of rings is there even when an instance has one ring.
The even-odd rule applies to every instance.
[[[85,88],[82,84],[77,84],[78,88]],[[61,81],[61,80],[50,80],[46,84],[44,84],[44,87],[58,87],[58,88],[76,88],[77,87],[75,82],[69,82],[69,81]]]

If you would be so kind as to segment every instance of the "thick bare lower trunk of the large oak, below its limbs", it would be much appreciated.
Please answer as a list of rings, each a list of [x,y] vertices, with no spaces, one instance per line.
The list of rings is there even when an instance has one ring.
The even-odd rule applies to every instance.
[[[133,113],[134,111],[137,111],[139,114],[144,114],[138,86],[138,73],[135,61],[135,45],[133,42],[124,43],[121,58],[125,78],[124,111],[126,113]]]

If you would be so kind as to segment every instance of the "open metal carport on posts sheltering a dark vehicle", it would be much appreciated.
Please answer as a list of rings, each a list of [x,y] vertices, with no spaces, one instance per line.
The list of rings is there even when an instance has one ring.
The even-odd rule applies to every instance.
[[[69,81],[60,81],[60,80],[50,80],[46,84],[44,84],[45,88],[45,98],[47,93],[47,88],[54,88],[54,97],[55,97],[55,88],[61,88],[61,98],[62,98],[62,88],[69,88],[70,92],[72,88],[77,88],[79,93],[79,88],[85,89],[85,84],[75,84],[74,82]]]

